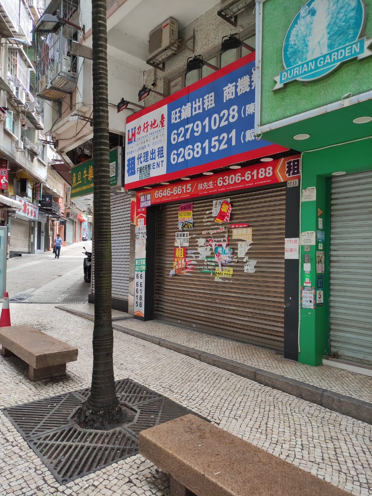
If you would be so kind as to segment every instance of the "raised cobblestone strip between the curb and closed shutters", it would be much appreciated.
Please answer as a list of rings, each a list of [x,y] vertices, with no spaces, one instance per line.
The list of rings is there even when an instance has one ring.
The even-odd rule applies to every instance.
[[[69,308],[68,305],[64,306]],[[70,308],[94,314],[94,305],[92,304],[84,303]],[[118,315],[120,312],[115,313],[115,316]],[[287,360],[280,352],[266,348],[251,346],[156,320],[142,322],[134,318],[127,318],[128,314],[126,313],[122,313],[122,315],[123,320],[117,321],[115,324],[372,403],[371,376],[328,365],[311,367]]]

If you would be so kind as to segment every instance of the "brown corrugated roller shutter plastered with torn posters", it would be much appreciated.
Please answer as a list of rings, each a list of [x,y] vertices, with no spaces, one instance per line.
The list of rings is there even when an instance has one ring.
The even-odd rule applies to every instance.
[[[243,258],[231,262],[233,277],[214,281],[199,271],[198,260],[186,274],[169,277],[173,269],[179,203],[157,209],[155,318],[248,343],[283,349],[285,186],[226,194],[232,213],[228,224],[249,223],[252,245],[246,256],[257,260],[256,272],[245,273]],[[192,201],[192,200],[190,200]],[[198,249],[202,231],[220,224],[211,215],[213,199],[193,201],[193,229],[188,250]],[[206,213],[209,214],[206,215]],[[224,224],[228,227],[228,224]],[[213,237],[218,237],[214,234]],[[228,247],[237,255],[238,241],[229,230]],[[226,281],[226,282],[225,282]]]

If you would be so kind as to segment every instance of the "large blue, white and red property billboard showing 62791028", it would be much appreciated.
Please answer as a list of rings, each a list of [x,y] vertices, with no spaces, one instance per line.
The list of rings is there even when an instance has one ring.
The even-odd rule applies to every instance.
[[[127,118],[125,187],[277,153],[254,133],[254,54]]]

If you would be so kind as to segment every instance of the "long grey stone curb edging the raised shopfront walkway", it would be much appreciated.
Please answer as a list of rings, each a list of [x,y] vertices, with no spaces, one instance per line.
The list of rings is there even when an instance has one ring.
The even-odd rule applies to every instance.
[[[72,313],[78,317],[94,321],[94,315],[90,313],[73,310],[62,306],[56,306],[55,308]],[[122,320],[125,320],[125,318]],[[333,412],[347,415],[348,417],[366,422],[367,424],[372,424],[372,404],[367,401],[362,401],[351,396],[345,396],[343,394],[313,386],[307,382],[291,379],[290,377],[285,377],[273,372],[257,369],[250,365],[242,364],[241,362],[236,362],[235,360],[229,360],[202,350],[189,348],[188,346],[174,343],[173,341],[168,341],[167,339],[162,339],[150,334],[145,334],[144,332],[128,329],[122,325],[113,323],[112,327],[113,329],[123,332],[124,334],[128,334],[158,346],[162,346],[168,350],[181,353],[182,355],[194,358],[195,360],[212,365],[218,369],[240,375],[241,377],[245,377],[246,379],[258,382],[264,386],[271,387],[272,389],[277,389],[278,391],[291,394],[292,396],[309,401],[310,403],[315,403],[327,408],[328,410],[332,410]]]

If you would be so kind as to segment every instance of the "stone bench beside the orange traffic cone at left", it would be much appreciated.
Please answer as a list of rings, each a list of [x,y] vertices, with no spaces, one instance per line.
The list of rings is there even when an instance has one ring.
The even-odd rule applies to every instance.
[[[66,373],[66,363],[77,360],[78,349],[29,325],[0,327],[1,355],[16,355],[29,365],[32,381]]]

